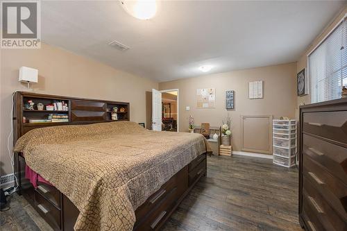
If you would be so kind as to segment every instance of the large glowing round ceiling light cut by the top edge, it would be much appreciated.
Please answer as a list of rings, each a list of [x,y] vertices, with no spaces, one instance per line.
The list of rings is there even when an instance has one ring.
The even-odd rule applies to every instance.
[[[142,20],[154,17],[158,8],[155,0],[120,0],[120,3],[129,15]]]

